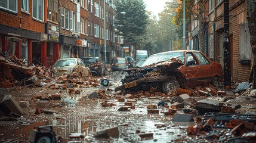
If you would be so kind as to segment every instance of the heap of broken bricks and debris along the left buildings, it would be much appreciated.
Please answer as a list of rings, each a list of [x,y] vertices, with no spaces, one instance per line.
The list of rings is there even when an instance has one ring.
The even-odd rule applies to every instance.
[[[27,66],[24,61],[13,56],[0,56],[0,88],[16,85],[47,85],[50,89],[66,89],[68,86],[95,87],[100,85],[96,79],[77,77],[73,74],[54,77],[45,66]]]

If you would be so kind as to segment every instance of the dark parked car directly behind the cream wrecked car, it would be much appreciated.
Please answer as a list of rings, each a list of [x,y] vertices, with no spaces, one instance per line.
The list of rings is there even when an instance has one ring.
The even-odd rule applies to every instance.
[[[106,75],[106,66],[100,57],[84,57],[83,61],[90,68],[92,76]]]

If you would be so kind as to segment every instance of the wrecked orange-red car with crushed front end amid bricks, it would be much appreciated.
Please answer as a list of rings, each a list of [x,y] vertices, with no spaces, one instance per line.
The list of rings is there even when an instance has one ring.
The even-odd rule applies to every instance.
[[[143,67],[127,69],[121,89],[149,89],[155,87],[168,94],[176,88],[187,88],[209,82],[214,86],[223,80],[221,64],[209,60],[201,51],[180,50],[151,55]]]

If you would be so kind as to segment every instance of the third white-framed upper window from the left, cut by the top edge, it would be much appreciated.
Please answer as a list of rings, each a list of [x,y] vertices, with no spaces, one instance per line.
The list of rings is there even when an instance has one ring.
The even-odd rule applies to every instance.
[[[33,18],[44,21],[44,1],[33,0]]]

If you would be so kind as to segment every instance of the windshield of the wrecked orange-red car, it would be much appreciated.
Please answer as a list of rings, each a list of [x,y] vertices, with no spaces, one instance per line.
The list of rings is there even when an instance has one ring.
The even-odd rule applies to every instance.
[[[150,65],[150,64],[156,64],[161,61],[167,61],[171,58],[178,58],[184,63],[184,55],[183,52],[169,52],[169,53],[164,53],[164,54],[157,54],[157,55],[152,55],[147,60],[142,64],[142,67]]]

